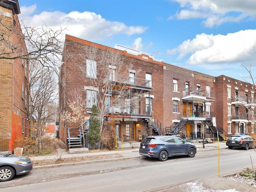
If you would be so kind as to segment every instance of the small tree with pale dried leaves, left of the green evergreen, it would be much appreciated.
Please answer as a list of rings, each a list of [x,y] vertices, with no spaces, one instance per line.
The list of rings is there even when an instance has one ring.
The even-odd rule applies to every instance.
[[[62,119],[66,120],[69,123],[76,123],[82,128],[82,137],[84,140],[85,147],[85,139],[84,139],[84,128],[85,123],[88,119],[88,115],[85,113],[86,108],[86,100],[82,98],[82,92],[80,90],[74,90],[72,94],[72,99],[68,101],[68,106],[70,110],[66,110],[64,114],[62,114]]]

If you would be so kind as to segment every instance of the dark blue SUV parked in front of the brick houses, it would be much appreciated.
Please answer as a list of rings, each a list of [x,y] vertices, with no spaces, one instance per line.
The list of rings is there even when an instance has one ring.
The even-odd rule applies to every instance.
[[[168,157],[194,157],[196,146],[175,136],[150,136],[140,143],[140,155],[166,161]]]

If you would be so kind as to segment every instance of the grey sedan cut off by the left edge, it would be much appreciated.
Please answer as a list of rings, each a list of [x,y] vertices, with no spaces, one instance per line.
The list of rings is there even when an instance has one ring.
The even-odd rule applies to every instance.
[[[30,172],[33,163],[28,157],[0,153],[0,182]]]

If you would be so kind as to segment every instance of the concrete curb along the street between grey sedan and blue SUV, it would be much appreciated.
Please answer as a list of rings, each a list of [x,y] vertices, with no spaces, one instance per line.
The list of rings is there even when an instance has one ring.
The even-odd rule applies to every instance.
[[[112,158],[112,159],[100,159],[100,160],[91,160],[91,161],[78,161],[78,162],[68,162],[68,163],[51,164],[51,165],[40,165],[40,166],[33,166],[33,168],[44,169],[44,168],[52,168],[52,167],[60,167],[60,166],[70,166],[70,165],[98,163],[98,162],[112,162],[112,161],[118,161],[118,160],[139,159],[139,158],[144,158],[144,156],[120,157],[120,158]]]

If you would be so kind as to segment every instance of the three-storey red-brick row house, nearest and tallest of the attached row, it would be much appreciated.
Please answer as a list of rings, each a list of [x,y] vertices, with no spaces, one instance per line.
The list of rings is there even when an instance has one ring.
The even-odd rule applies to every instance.
[[[94,59],[86,56],[88,48],[97,48],[97,55],[101,56]],[[102,75],[106,71],[105,68],[102,70],[101,62],[104,52],[119,54],[122,64],[110,62],[104,66],[108,72]],[[82,54],[85,59],[81,62],[76,53]],[[151,54],[120,45],[110,48],[66,35],[60,69],[63,82],[59,85],[60,118],[68,110],[67,103],[72,100],[72,92],[78,88],[86,100],[85,110],[90,111],[93,104],[102,110],[107,109],[105,119],[109,121],[114,118],[118,138],[137,141],[142,135],[147,135],[149,119],[153,119],[154,133],[160,134],[163,126],[160,123],[163,120],[162,75],[163,62],[155,60]],[[98,82],[98,86],[92,80],[96,84]],[[60,139],[67,142],[66,138],[76,138],[78,128],[78,124],[60,119]]]

